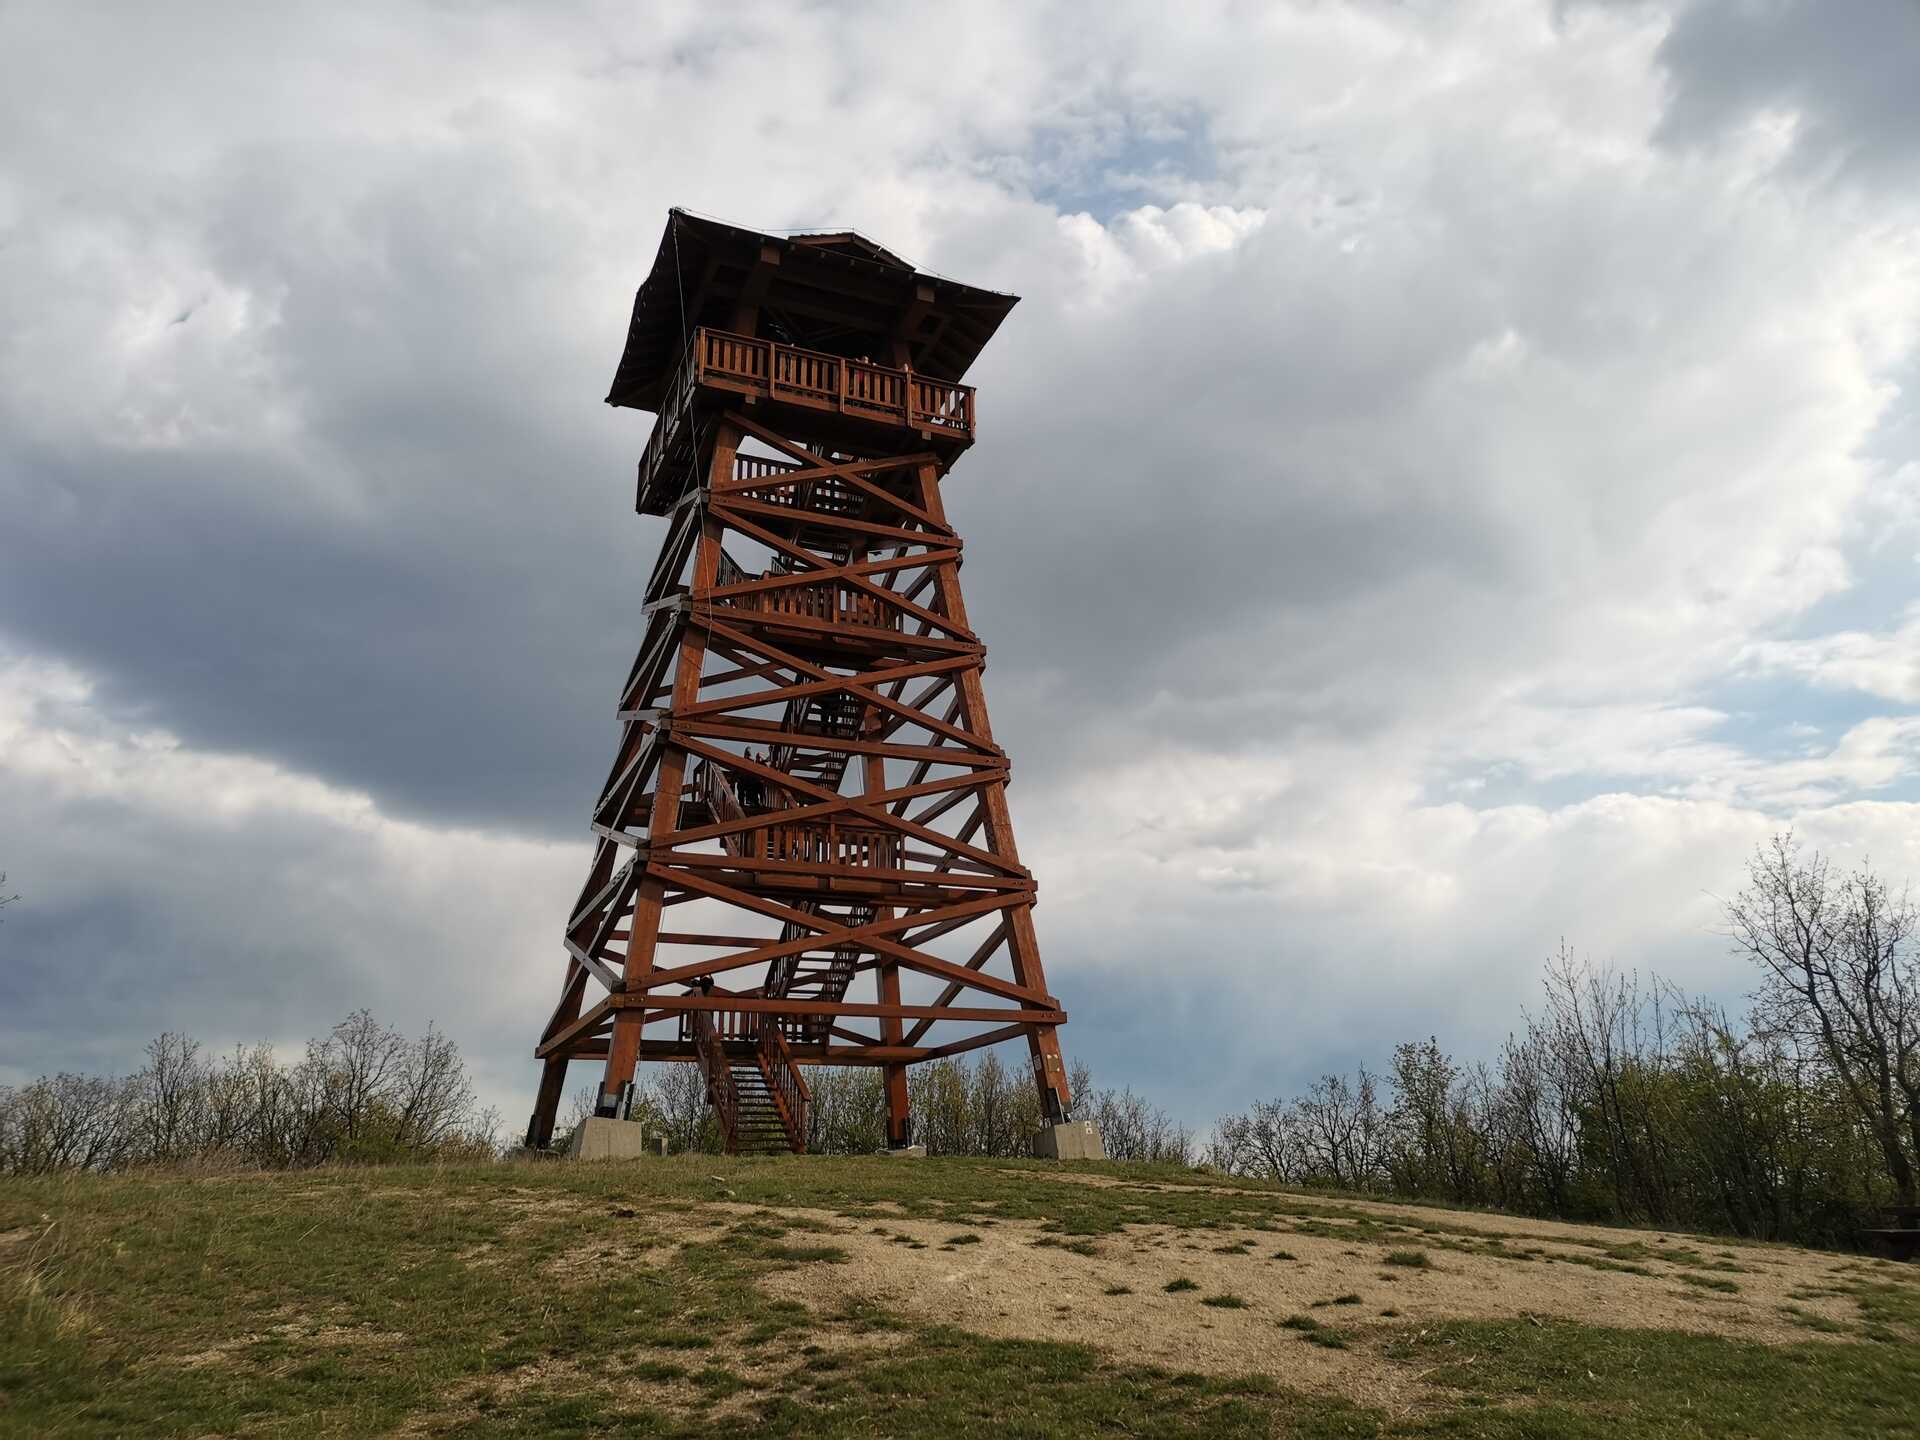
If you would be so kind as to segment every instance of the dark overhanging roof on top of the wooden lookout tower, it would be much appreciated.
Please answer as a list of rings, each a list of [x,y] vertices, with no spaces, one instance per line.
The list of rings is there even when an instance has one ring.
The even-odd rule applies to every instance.
[[[918,271],[854,230],[781,236],[672,209],[607,403],[659,409],[689,332],[732,330],[743,305],[758,309],[762,336],[881,363],[895,363],[899,342],[916,371],[960,380],[1016,303]]]

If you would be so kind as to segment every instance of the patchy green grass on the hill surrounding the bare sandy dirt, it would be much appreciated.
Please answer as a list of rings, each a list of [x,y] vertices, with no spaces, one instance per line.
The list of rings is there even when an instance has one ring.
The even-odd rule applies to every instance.
[[[1127,1225],[1187,1231],[1208,1250],[1223,1248],[1223,1231],[1271,1227],[1371,1240],[1371,1256],[1409,1233],[1323,1196],[1185,1169],[1073,1169],[1119,1183],[1050,1185],[1060,1167],[1025,1162],[710,1156],[6,1181],[0,1436],[1864,1440],[1912,1434],[1920,1413],[1920,1286],[1891,1267],[1853,1267],[1820,1288],[1855,1306],[1859,1327],[1803,1311],[1791,1319],[1822,1334],[1778,1346],[1528,1319],[1279,1321],[1348,1352],[1342,1365],[1398,1367],[1425,1400],[1394,1413],[1261,1375],[1137,1363],[1123,1331],[1142,1302],[1108,1354],[970,1334],[858,1296],[770,1298],[780,1271],[803,1275],[787,1292],[843,1296],[814,1277],[843,1277],[874,1223],[939,1225],[948,1246],[973,1242],[962,1227],[1037,1223],[1066,1250]],[[1419,1229],[1417,1254],[1465,1248],[1446,1219]],[[1688,1283],[1734,1284],[1720,1279],[1724,1254],[1642,1240],[1588,1250],[1580,1261],[1605,1269],[1686,1265]],[[1231,1300],[1204,1304],[1231,1311]],[[1286,1373],[1279,1359],[1275,1373]]]

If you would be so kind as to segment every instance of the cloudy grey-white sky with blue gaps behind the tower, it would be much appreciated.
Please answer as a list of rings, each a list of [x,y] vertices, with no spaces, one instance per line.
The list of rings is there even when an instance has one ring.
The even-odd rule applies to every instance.
[[[365,1004],[526,1114],[668,205],[1025,296],[948,505],[1102,1081],[1920,881],[1920,4],[1098,15],[0,4],[0,1083]]]

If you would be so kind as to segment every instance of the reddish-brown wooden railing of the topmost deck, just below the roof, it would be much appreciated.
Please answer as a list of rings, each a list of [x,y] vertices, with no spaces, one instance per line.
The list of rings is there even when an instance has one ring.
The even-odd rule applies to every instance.
[[[973,438],[973,386],[707,326],[693,332],[687,359],[693,384]],[[672,394],[678,392],[676,384]],[[666,422],[664,409],[660,422]]]

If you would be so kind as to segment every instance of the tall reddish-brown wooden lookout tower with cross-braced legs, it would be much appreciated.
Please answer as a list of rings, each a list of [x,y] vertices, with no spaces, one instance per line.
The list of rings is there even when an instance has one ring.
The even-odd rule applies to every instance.
[[[668,215],[607,396],[657,417],[637,509],[666,538],[528,1144],[568,1060],[605,1062],[614,1117],[664,1060],[735,1152],[806,1148],[808,1066],[877,1066],[904,1146],[906,1068],[1012,1039],[1069,1119],[941,501],[1014,303],[858,234]]]

